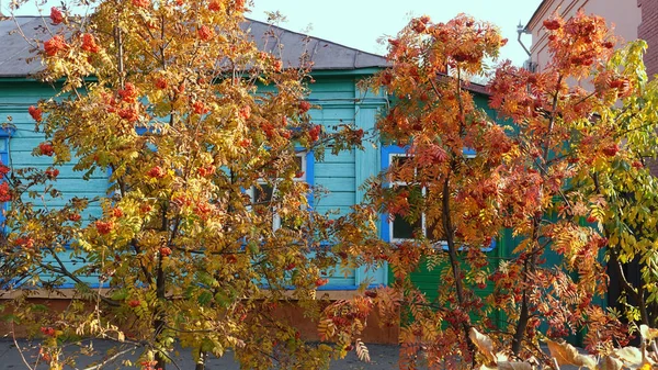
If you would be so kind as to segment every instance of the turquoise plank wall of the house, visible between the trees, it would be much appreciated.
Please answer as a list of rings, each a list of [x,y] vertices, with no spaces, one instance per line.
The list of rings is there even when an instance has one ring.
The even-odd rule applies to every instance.
[[[356,82],[364,74],[367,75],[372,71],[324,72],[316,76],[316,82],[310,85],[309,101],[320,109],[310,112],[314,122],[325,125],[327,130],[340,124],[355,124],[361,128],[371,130],[375,123],[376,112],[385,105],[386,100],[382,97],[362,93],[356,88]],[[35,105],[39,99],[50,98],[55,93],[54,88],[34,81],[0,81],[0,122],[5,122],[7,117],[11,116],[11,122],[16,126],[16,131],[10,139],[10,165],[13,168],[45,169],[52,165],[50,157],[32,155],[32,150],[44,141],[44,136],[34,132],[34,121],[27,113],[27,108]],[[319,212],[348,213],[350,206],[363,198],[363,192],[359,190],[359,187],[370,176],[378,172],[376,165],[378,162],[378,149],[371,146],[366,146],[363,152],[342,152],[338,155],[331,155],[330,149],[327,149],[325,159],[314,164],[315,186],[329,191],[315,204],[316,209]],[[106,173],[99,172],[89,181],[84,181],[81,172],[72,171],[72,165],[58,168],[60,175],[57,187],[64,194],[61,199],[49,199],[48,206],[61,206],[66,200],[72,197],[93,198],[105,194]],[[89,220],[90,216],[100,214],[100,206],[91,205],[89,212],[83,216]],[[322,289],[353,290],[366,280],[373,284],[385,284],[387,282],[386,269],[374,272],[360,269],[352,271],[347,277],[341,271],[334,271],[329,277],[329,283]],[[87,281],[98,282],[94,277],[90,277]]]

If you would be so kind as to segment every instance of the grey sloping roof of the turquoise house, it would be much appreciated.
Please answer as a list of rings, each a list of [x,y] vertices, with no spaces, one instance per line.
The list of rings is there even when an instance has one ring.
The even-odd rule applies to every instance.
[[[26,63],[36,56],[36,52],[23,35],[16,32],[16,25],[27,40],[46,36],[46,24],[41,16],[16,16],[15,22],[12,19],[0,20],[0,78],[25,77],[41,69],[37,60]],[[260,49],[275,52],[286,67],[298,66],[299,57],[304,53],[307,53],[313,61],[313,70],[354,70],[388,66],[383,56],[268,23],[247,19],[245,29]]]

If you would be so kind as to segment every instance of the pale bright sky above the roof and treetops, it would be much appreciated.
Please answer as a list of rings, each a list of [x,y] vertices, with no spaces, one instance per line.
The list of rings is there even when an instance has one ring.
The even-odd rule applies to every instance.
[[[33,0],[19,12],[35,15],[36,5],[43,0]],[[385,43],[397,34],[411,18],[429,15],[434,22],[445,22],[458,13],[496,24],[503,37],[509,38],[501,49],[501,59],[511,59],[522,65],[527,55],[517,42],[517,25],[525,25],[542,0],[251,0],[248,18],[266,21],[266,12],[279,11],[286,21],[280,26],[307,33],[338,44],[364,52],[384,55]],[[9,0],[0,0],[0,10],[8,13]],[[60,1],[48,1],[43,9]],[[523,35],[522,42],[530,48],[531,36]]]

